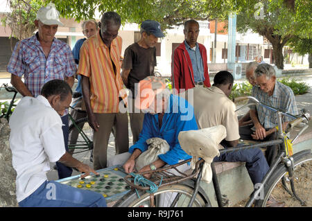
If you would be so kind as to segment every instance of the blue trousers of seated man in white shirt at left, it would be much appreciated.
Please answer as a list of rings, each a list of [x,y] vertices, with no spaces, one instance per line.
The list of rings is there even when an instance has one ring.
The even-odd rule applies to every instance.
[[[45,181],[35,192],[19,202],[21,207],[106,207],[103,195]]]

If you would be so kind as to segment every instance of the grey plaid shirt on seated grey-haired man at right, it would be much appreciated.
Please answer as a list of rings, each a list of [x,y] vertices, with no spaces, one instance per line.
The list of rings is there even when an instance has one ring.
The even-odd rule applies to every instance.
[[[277,80],[275,81],[275,88],[272,96],[268,96],[268,93],[261,91],[260,87],[252,87],[252,96],[257,98],[261,103],[280,109],[288,114],[298,114],[293,90]],[[250,106],[250,109],[256,109],[256,107]],[[277,126],[277,114],[270,109],[257,105],[257,113],[259,122],[264,128],[270,129]],[[293,118],[284,116],[285,122],[291,120],[293,120]]]

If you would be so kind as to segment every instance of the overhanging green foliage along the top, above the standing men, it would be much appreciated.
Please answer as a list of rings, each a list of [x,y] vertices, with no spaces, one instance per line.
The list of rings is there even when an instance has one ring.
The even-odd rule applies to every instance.
[[[234,1],[220,0],[52,0],[60,14],[76,21],[94,18],[96,9],[103,14],[115,11],[125,22],[140,24],[146,19],[159,21],[162,29],[182,24],[187,19],[226,19],[236,5]]]

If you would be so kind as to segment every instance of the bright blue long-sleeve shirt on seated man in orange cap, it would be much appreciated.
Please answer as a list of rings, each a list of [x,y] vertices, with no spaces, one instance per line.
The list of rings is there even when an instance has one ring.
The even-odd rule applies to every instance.
[[[184,98],[171,94],[162,119],[162,127],[159,129],[158,114],[145,114],[139,140],[130,147],[129,152],[134,152],[136,148],[144,152],[148,149],[146,140],[159,137],[166,140],[170,146],[168,152],[159,154],[159,159],[169,165],[178,163],[180,160],[191,159],[191,156],[182,150],[177,139],[181,131],[187,130],[198,130],[194,109]]]

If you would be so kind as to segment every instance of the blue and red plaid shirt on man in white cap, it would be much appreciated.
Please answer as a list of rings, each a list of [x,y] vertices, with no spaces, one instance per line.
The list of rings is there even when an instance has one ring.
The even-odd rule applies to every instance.
[[[15,45],[7,70],[19,77],[24,75],[26,87],[37,97],[44,83],[71,77],[76,73],[77,67],[69,45],[55,38],[46,58],[36,33]]]

